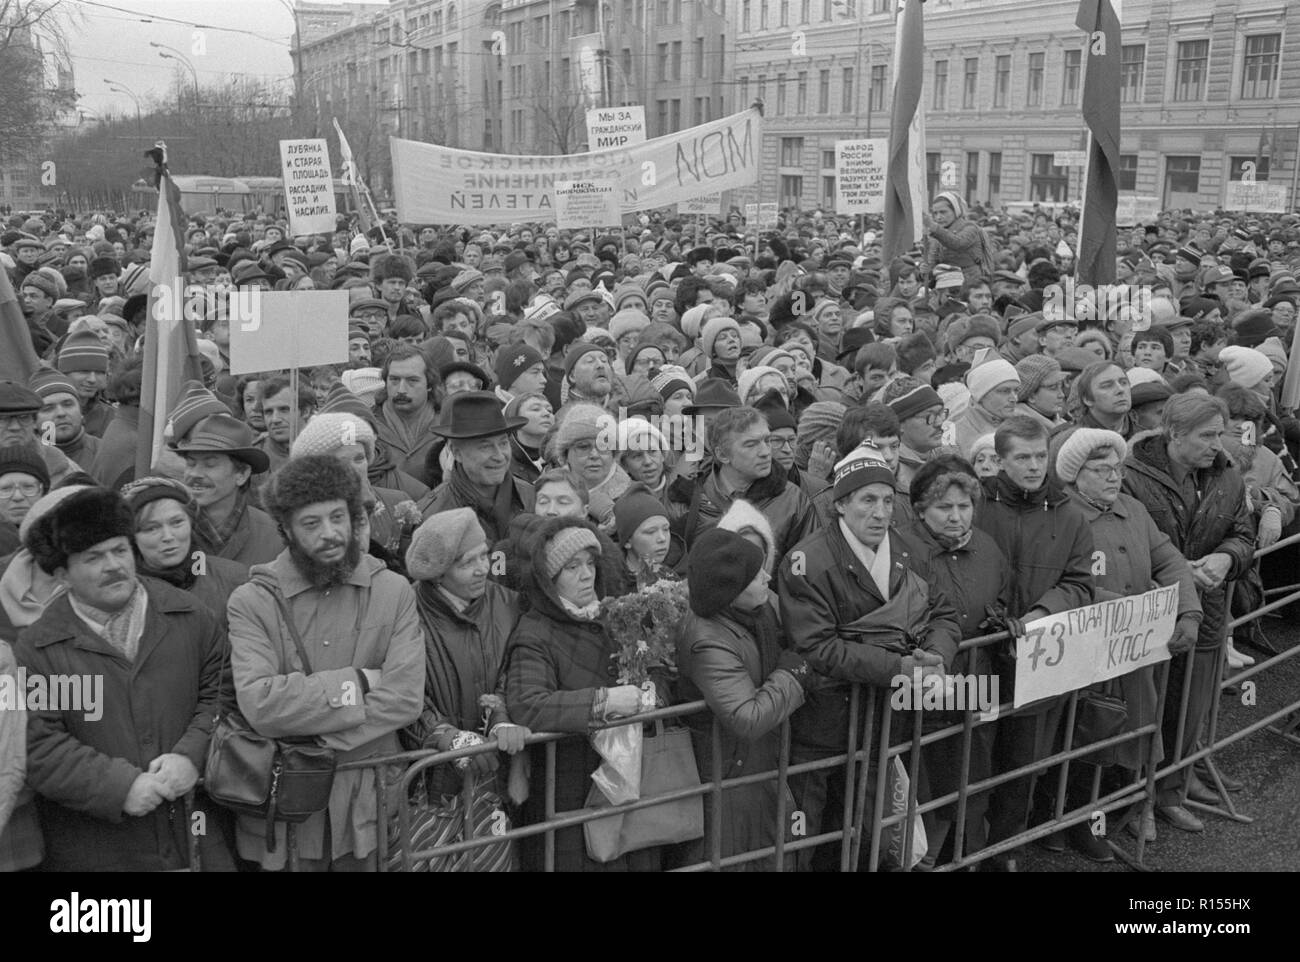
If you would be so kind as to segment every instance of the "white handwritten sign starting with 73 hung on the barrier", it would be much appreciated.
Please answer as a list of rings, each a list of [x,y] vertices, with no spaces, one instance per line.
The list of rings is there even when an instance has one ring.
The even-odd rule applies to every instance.
[[[1015,645],[1014,706],[1169,660],[1176,616],[1170,585],[1027,623]]]

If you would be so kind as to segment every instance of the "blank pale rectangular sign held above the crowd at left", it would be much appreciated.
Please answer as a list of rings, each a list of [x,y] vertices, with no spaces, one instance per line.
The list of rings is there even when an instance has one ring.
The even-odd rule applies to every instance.
[[[347,291],[261,291],[230,324],[230,373],[347,363]]]

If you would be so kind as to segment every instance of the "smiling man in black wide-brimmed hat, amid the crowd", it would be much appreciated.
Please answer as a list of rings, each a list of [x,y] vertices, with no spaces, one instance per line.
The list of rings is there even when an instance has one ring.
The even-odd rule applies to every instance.
[[[511,474],[511,432],[526,417],[506,419],[491,391],[465,391],[447,400],[442,424],[430,430],[447,438],[455,460],[451,474],[420,499],[424,517],[452,508],[473,508],[488,543],[506,537],[510,519],[533,510],[533,486]]]

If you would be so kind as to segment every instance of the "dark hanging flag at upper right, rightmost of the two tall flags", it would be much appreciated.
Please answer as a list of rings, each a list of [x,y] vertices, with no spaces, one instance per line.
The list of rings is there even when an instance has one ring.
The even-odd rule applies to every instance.
[[[1119,204],[1121,0],[1080,0],[1075,26],[1088,34],[1083,120],[1088,169],[1079,224],[1079,283],[1115,281],[1115,209]]]

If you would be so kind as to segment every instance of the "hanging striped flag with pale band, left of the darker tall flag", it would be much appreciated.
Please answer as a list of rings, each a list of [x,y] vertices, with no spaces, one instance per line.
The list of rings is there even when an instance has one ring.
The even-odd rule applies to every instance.
[[[881,255],[889,263],[920,239],[926,209],[924,0],[906,0],[894,40],[894,90],[889,109],[889,166],[885,170],[885,230]]]

